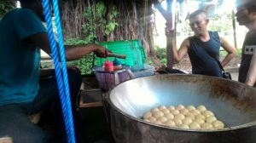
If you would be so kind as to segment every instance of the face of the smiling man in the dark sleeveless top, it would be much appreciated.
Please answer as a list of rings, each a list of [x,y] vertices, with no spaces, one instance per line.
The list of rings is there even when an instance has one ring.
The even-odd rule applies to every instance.
[[[207,31],[208,19],[204,14],[198,14],[189,19],[189,26],[195,35],[201,35]]]

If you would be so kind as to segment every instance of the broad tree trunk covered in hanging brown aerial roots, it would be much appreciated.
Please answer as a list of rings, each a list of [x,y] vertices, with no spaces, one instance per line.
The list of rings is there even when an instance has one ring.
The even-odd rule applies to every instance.
[[[96,15],[98,14],[96,11],[97,8],[94,9],[96,3],[99,2],[104,3],[106,9],[106,13],[102,14],[102,17],[100,18]],[[154,54],[151,22],[151,14],[153,14],[152,0],[139,2],[140,3],[134,0],[69,0],[66,3],[63,3],[63,6],[61,7],[63,35],[65,38],[79,37],[83,39],[89,37],[91,33],[85,31],[83,26],[85,24],[90,24],[90,26],[94,26],[95,28],[94,32],[98,42],[139,39],[143,41],[143,46],[145,50],[148,51],[147,53]],[[147,3],[147,7],[145,7],[145,3]],[[84,11],[89,9],[88,6],[90,6],[92,15],[84,16]],[[117,8],[119,13],[115,19],[119,26],[117,26],[109,35],[106,35],[105,26],[109,21],[113,6]],[[105,23],[102,23],[103,20],[106,20],[107,22],[105,21]],[[144,23],[143,20],[145,20]]]

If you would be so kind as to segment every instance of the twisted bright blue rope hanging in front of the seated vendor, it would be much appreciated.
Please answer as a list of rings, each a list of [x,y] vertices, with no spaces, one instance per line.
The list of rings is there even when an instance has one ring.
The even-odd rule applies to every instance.
[[[50,49],[52,52],[52,57],[55,64],[55,76],[57,79],[60,99],[61,99],[61,110],[62,116],[64,118],[65,129],[67,134],[67,142],[68,143],[75,143],[75,134],[73,130],[73,115],[72,115],[72,107],[70,101],[70,94],[69,94],[69,86],[68,86],[68,79],[67,79],[67,66],[65,60],[65,52],[64,52],[64,44],[61,32],[61,21],[60,21],[60,14],[58,9],[57,0],[53,0],[53,8],[55,11],[55,23],[57,26],[58,31],[58,40],[60,43],[60,54],[57,50],[57,44],[55,42],[53,26],[51,23],[51,11],[49,7],[49,0],[43,0],[42,2],[44,7],[44,17],[47,23],[48,28],[48,35],[49,35],[49,42],[50,42]],[[59,58],[60,55],[60,58]],[[61,61],[61,63],[60,63]]]

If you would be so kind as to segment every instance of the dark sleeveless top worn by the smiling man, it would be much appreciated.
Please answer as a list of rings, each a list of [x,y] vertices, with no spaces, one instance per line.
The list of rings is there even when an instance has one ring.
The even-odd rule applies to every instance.
[[[193,74],[223,77],[216,60],[219,60],[220,40],[217,31],[208,31],[210,40],[202,42],[198,37],[189,37],[189,59]]]

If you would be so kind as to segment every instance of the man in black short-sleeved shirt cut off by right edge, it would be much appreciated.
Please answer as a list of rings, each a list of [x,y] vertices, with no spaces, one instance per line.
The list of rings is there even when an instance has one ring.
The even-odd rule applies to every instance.
[[[256,0],[237,4],[236,19],[249,29],[242,45],[238,81],[256,87]]]

